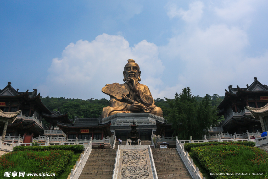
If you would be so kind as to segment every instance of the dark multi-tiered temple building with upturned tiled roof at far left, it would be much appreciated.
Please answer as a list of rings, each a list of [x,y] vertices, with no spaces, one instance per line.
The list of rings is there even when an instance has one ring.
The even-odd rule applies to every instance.
[[[67,113],[60,114],[59,111],[50,111],[42,103],[40,93],[36,89],[32,92],[29,90],[19,92],[11,86],[11,82],[0,90],[0,109],[3,112],[16,112],[21,110],[17,115],[17,120],[10,123],[6,130],[8,136],[25,136],[33,137],[43,136],[46,127],[43,125],[43,120],[46,120],[51,125],[57,125],[57,122],[71,123]],[[49,129],[50,130],[50,127]],[[3,128],[0,128],[0,134],[3,133]],[[17,137],[19,138],[19,137]],[[25,141],[24,141],[25,142]]]

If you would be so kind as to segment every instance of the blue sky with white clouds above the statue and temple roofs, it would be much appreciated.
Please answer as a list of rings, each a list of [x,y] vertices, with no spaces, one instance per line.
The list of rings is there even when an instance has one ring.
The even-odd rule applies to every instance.
[[[268,1],[1,1],[0,89],[108,98],[129,58],[154,98],[267,82]]]

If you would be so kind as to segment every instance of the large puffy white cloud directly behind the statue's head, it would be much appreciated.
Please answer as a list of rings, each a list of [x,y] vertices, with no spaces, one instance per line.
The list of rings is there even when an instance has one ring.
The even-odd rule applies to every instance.
[[[124,66],[128,59],[136,60],[142,71],[141,82],[161,83],[165,67],[158,59],[158,47],[143,40],[134,47],[120,35],[102,34],[94,41],[70,43],[61,58],[54,58],[46,84],[39,86],[42,94],[70,98],[106,97],[101,89],[107,83],[123,83]],[[147,80],[150,79],[150,80]],[[155,85],[154,85],[155,86]]]

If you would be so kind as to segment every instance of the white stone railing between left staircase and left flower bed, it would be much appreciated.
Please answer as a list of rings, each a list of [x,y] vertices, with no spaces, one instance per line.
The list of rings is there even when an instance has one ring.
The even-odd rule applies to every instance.
[[[85,163],[87,163],[87,159],[91,153],[91,149],[92,148],[92,141],[90,141],[90,144],[88,145],[88,147],[86,148],[85,152],[84,152],[84,155],[81,154],[80,156],[80,161],[76,161],[76,166],[75,166],[75,170],[71,170],[71,176],[70,176],[70,179],[77,179],[79,178],[84,166],[85,166]]]

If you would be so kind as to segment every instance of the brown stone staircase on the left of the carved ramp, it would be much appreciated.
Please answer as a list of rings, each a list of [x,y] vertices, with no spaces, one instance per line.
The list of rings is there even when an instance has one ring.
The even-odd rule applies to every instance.
[[[118,141],[117,141],[118,143]],[[82,178],[112,178],[117,149],[92,149],[80,174]]]

